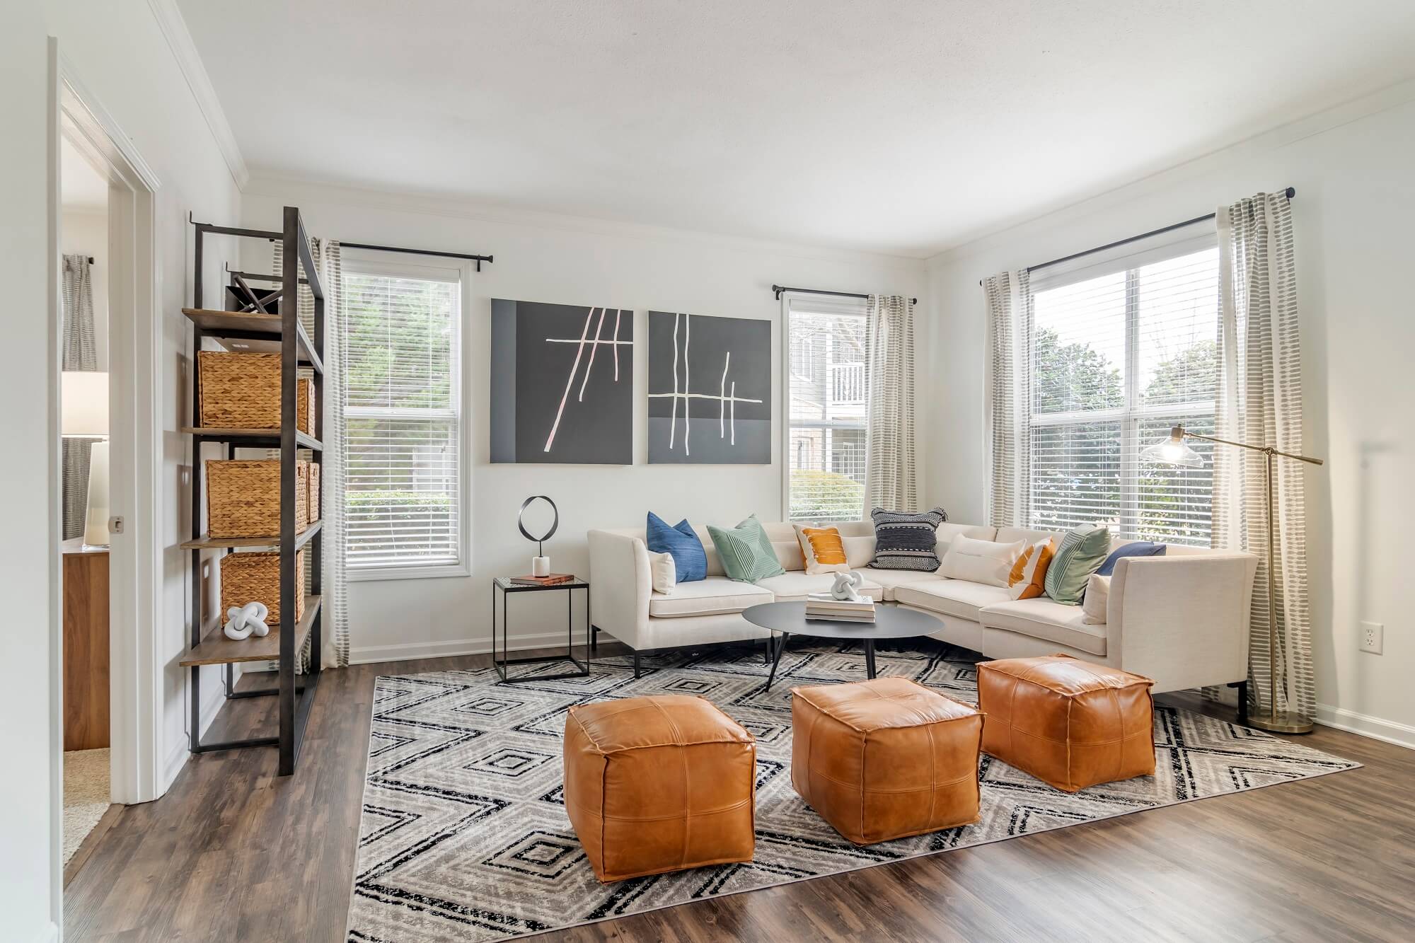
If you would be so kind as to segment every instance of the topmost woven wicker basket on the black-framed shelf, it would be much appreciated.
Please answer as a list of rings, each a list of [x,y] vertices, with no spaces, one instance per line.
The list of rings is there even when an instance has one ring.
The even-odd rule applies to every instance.
[[[209,429],[280,428],[280,354],[197,351],[200,425]],[[314,381],[294,382],[294,428],[314,435]]]

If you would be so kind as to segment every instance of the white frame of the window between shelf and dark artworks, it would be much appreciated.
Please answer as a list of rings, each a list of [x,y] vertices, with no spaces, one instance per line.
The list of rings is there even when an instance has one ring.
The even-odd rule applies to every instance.
[[[350,582],[391,582],[402,579],[443,579],[449,576],[471,576],[471,453],[467,447],[471,442],[471,402],[467,382],[468,344],[471,331],[467,330],[467,313],[471,310],[471,278],[473,262],[463,265],[437,265],[433,262],[416,263],[402,258],[391,256],[388,252],[374,249],[345,249],[341,256],[342,275],[347,279],[351,273],[374,275],[402,279],[422,279],[432,282],[456,282],[460,286],[457,296],[457,316],[453,319],[456,337],[451,348],[456,353],[454,372],[451,378],[451,401],[456,404],[457,429],[457,494],[453,503],[457,508],[457,556],[447,564],[405,564],[383,566],[352,566],[350,565],[347,547],[344,559],[344,575]],[[345,340],[345,338],[341,338]],[[391,416],[405,411],[378,411],[345,406],[345,419],[361,415]],[[432,413],[441,411],[406,411],[410,418],[434,418]],[[345,452],[348,442],[344,443]],[[347,467],[347,463],[345,463]],[[345,514],[348,508],[345,505]]]

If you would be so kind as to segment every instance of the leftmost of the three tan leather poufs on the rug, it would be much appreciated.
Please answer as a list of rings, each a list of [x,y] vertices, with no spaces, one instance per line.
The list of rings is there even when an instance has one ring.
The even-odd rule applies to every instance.
[[[572,707],[565,810],[600,881],[751,861],[757,742],[683,695]]]

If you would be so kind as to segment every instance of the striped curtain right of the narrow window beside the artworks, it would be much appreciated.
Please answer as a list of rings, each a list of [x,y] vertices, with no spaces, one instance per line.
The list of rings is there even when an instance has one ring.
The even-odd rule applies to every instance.
[[[870,295],[865,507],[918,510],[914,470],[914,303]]]

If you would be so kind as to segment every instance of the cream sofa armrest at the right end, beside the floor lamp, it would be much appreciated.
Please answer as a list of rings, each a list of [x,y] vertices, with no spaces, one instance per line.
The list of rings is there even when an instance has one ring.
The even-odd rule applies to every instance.
[[[1155,678],[1155,691],[1248,677],[1252,554],[1122,556],[1107,603],[1112,664]]]

